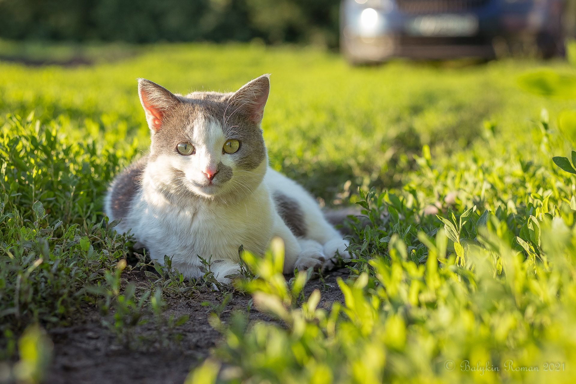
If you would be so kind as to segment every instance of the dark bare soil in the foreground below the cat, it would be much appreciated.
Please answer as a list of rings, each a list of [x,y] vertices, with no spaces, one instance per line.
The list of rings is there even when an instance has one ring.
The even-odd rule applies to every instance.
[[[321,291],[319,306],[331,307],[332,302],[344,303],[344,296],[336,283],[337,277],[346,279],[348,269],[328,272],[323,284],[319,279],[310,280],[305,287],[305,295],[313,290]],[[146,277],[135,273],[130,280],[143,284]],[[54,359],[47,374],[46,383],[83,384],[83,383],[162,383],[181,384],[198,363],[202,362],[209,350],[220,337],[207,321],[209,307],[202,302],[221,303],[218,294],[202,287],[192,298],[167,299],[167,315],[175,317],[189,315],[190,320],[175,328],[183,338],[180,345],[170,343],[160,348],[160,344],[141,345],[132,349],[118,343],[116,336],[102,324],[104,317],[96,306],[84,309],[83,320],[74,326],[56,328],[49,331],[54,341]],[[234,298],[223,310],[221,320],[229,319],[233,310],[247,311],[250,295],[234,293]],[[276,321],[267,314],[252,307],[249,311],[251,321]],[[154,334],[154,324],[139,327],[143,335]],[[153,339],[150,338],[150,339]]]

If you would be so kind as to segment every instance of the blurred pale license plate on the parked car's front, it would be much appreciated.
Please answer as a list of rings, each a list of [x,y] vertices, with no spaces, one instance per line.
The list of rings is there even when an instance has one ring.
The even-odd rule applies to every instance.
[[[415,36],[457,37],[478,33],[478,17],[472,14],[418,16],[406,24],[407,32]]]

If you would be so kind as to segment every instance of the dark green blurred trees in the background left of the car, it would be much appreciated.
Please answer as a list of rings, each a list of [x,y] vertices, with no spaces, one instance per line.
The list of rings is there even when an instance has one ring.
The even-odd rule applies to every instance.
[[[338,45],[338,0],[0,0],[0,37]]]

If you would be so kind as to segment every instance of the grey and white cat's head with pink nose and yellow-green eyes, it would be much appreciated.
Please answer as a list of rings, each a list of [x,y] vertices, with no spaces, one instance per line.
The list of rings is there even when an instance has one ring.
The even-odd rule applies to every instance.
[[[260,123],[269,75],[234,93],[172,94],[146,79],[138,93],[151,132],[146,172],[172,195],[247,196],[262,181],[268,157]]]

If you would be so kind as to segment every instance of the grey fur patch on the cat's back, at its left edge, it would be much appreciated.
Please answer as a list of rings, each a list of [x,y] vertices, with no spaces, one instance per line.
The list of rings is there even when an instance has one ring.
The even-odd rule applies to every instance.
[[[123,219],[128,216],[132,199],[142,188],[140,180],[147,162],[147,157],[133,162],[114,180],[112,191],[110,192],[110,209],[114,218]]]

